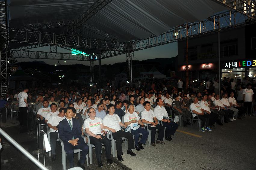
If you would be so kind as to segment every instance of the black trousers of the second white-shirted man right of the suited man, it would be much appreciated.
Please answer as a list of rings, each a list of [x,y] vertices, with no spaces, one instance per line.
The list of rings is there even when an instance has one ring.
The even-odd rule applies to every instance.
[[[134,140],[133,140],[133,135],[129,132],[125,132],[123,130],[119,130],[115,133],[112,133],[113,139],[116,140],[116,150],[117,150],[117,155],[122,155],[123,150],[122,150],[122,137],[128,139],[128,150],[135,149],[134,148]],[[110,135],[109,135],[110,137]]]

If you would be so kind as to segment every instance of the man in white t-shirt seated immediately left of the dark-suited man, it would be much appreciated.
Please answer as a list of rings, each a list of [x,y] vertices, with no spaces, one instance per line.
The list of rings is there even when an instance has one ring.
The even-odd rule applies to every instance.
[[[58,125],[61,120],[65,119],[64,109],[65,108],[60,108],[58,114],[51,116],[47,122],[47,126],[50,128],[52,161],[56,160],[55,150],[56,150],[56,140],[58,139]]]

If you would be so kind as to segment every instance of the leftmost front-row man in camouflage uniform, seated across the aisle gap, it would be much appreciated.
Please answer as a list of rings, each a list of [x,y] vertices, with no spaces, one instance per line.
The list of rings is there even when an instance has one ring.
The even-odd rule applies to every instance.
[[[179,95],[173,95],[173,98],[175,99],[172,102],[172,108],[177,110],[180,115],[182,115],[182,120],[184,125],[183,126],[187,126],[187,125],[191,125],[189,120],[191,117],[191,113],[189,112],[189,108],[187,108],[186,106],[184,107],[184,105],[179,101],[180,97]],[[179,120],[181,121],[181,120]]]

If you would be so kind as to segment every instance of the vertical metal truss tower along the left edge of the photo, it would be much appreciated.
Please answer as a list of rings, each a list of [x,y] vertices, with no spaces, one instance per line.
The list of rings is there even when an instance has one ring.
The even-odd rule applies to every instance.
[[[8,34],[7,34],[7,4],[6,0],[0,0],[0,35],[4,38],[5,47],[0,51],[0,78],[1,78],[1,95],[8,92]]]

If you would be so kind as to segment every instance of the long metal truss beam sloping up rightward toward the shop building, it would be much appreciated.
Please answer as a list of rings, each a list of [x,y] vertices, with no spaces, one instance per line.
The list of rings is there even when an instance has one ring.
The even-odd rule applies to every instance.
[[[237,11],[227,11],[216,14],[200,22],[188,23],[188,38],[195,38],[205,34],[210,34],[220,30],[232,29],[244,26],[248,18]],[[101,52],[101,59],[118,56],[128,52],[134,52],[163,44],[168,44],[186,39],[186,24],[170,29],[159,36],[152,35],[144,40],[129,41],[120,44],[118,48]]]

